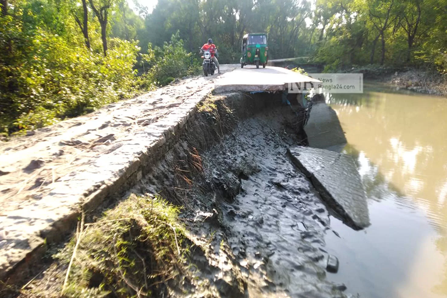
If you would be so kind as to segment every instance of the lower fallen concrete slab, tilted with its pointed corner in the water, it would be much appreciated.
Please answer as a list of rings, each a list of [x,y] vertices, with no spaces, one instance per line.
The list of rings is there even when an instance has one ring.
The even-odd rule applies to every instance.
[[[346,225],[354,230],[370,225],[365,189],[350,155],[300,146],[288,154]]]

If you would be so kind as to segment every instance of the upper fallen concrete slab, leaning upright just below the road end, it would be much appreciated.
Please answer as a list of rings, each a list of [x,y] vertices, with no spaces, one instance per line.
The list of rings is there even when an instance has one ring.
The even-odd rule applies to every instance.
[[[337,113],[325,102],[311,106],[304,131],[310,147],[341,152],[347,143]]]

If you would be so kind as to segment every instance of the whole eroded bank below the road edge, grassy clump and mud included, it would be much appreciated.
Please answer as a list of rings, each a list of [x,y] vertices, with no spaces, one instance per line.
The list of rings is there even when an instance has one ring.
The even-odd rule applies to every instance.
[[[79,241],[65,295],[351,297],[326,280],[327,268],[337,265],[325,251],[329,213],[287,157],[287,148],[305,139],[298,108],[264,93],[202,103],[178,142],[118,205],[86,215],[85,222],[99,224],[89,226],[96,233],[85,236],[90,243]],[[153,206],[164,208],[155,194],[181,206],[178,217],[160,217],[163,209],[151,215]],[[157,237],[144,232],[154,217],[172,229]],[[128,225],[115,225],[121,221]],[[171,239],[164,267],[156,239]],[[8,293],[60,297],[75,243],[76,235],[50,248],[47,263],[30,272],[34,279]],[[98,245],[104,248],[92,250]]]

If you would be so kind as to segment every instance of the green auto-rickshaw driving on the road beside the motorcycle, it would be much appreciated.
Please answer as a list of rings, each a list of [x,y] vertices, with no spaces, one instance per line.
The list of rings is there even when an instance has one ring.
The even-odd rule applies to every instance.
[[[267,58],[267,34],[266,33],[249,33],[242,38],[242,58],[240,58],[240,67],[252,64],[259,68],[259,65],[266,67]]]

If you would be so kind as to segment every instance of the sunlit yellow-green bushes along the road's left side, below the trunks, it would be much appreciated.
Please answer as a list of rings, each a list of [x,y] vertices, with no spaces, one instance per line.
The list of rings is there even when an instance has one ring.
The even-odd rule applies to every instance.
[[[134,94],[136,42],[111,39],[104,57],[24,11],[26,18],[17,17],[20,10],[0,17],[0,48],[8,49],[0,58],[0,133],[50,125]]]

